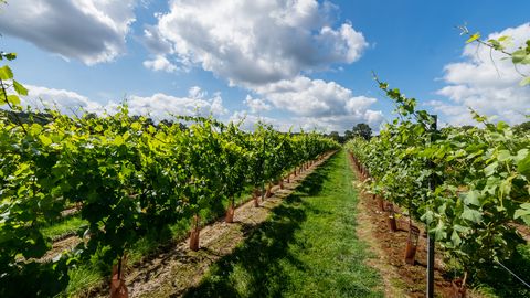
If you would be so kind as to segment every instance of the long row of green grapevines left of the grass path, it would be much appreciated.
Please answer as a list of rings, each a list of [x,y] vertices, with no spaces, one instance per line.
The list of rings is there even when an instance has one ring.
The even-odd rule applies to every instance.
[[[2,297],[54,296],[87,264],[119,268],[130,247],[182,220],[193,222],[197,251],[203,220],[227,210],[230,222],[235,199],[250,191],[258,206],[273,183],[338,146],[316,134],[265,125],[244,132],[211,118],[153,126],[127,106],[106,117],[50,117],[45,125],[0,119]],[[53,242],[43,231],[65,216],[82,219],[74,233],[82,241],[43,258]]]

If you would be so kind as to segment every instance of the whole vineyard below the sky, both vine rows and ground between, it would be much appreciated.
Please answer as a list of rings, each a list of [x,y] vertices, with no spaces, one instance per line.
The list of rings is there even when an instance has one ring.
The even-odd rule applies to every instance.
[[[391,255],[389,263],[407,264],[400,268],[406,275],[424,272],[417,266],[424,257],[423,231],[443,256],[438,262],[445,264],[444,273],[436,275],[436,292],[443,297],[455,292],[464,297],[468,285],[480,283],[501,296],[528,295],[521,286],[524,280],[518,284],[528,273],[521,264],[530,264],[528,131],[492,125],[477,114],[481,127],[436,129],[436,117],[416,110],[413,98],[379,84],[395,102],[399,119],[378,137],[354,138],[344,148],[362,181],[362,196],[369,198],[363,225],[370,221],[377,225],[385,214],[389,233],[395,236],[382,234],[381,226],[362,233],[375,235],[380,243],[372,245],[379,247],[384,241],[396,242],[379,254]],[[23,94],[23,87],[15,93]],[[6,102],[20,109],[13,98]],[[326,290],[343,297],[380,297],[381,281],[371,268],[357,260],[340,270],[333,265],[344,249],[350,258],[370,257],[358,240],[348,241],[358,237],[350,219],[359,212],[353,177],[337,155],[330,163],[325,161],[340,149],[330,138],[278,132],[264,124],[250,132],[212,117],[176,116],[174,124],[153,124],[129,115],[127,105],[102,117],[47,110],[29,113],[22,120],[21,115],[6,113],[0,118],[2,297],[105,297],[107,285],[112,297],[128,290],[134,297],[204,297],[223,287],[243,287],[234,288],[236,296],[289,296],[296,288],[295,296]],[[346,162],[346,156],[339,156]],[[307,170],[322,162],[324,169],[306,178]],[[287,193],[284,202],[279,196],[267,199],[300,179],[309,181]],[[272,210],[272,219],[262,206]],[[300,209],[309,212],[301,216],[304,223],[296,213]],[[224,225],[214,223],[220,219]],[[293,226],[284,226],[284,221]],[[254,232],[241,233],[239,225]],[[400,244],[399,231],[406,231],[406,245]],[[322,234],[328,235],[325,242]],[[326,251],[329,256],[320,260],[310,255],[307,247],[314,246],[317,255]],[[404,258],[395,256],[403,253]],[[289,266],[279,272],[271,266],[285,254],[305,259],[304,277]],[[177,260],[162,260],[170,257]],[[190,267],[189,262],[197,265]],[[258,269],[247,279],[237,266]],[[517,275],[499,273],[506,266]],[[174,270],[186,273],[183,280],[193,278],[165,281]],[[336,279],[306,286],[320,270]],[[288,276],[290,288],[285,276],[268,278],[265,286],[253,281],[268,275]],[[500,281],[499,275],[505,275]],[[346,276],[353,286],[337,286]],[[233,286],[234,280],[244,286]],[[422,297],[425,288],[415,285],[396,292],[386,295]]]

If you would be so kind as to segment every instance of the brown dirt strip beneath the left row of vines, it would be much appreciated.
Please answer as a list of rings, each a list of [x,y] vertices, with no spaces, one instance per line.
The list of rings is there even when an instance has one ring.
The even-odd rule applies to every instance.
[[[314,163],[301,174],[290,178],[290,183],[284,182],[284,189],[275,185],[274,195],[261,202],[259,207],[254,201],[248,201],[235,210],[234,223],[226,224],[223,220],[204,226],[200,232],[200,249],[189,249],[189,238],[178,243],[166,253],[150,257],[141,264],[129,268],[126,273],[126,285],[129,297],[180,297],[190,287],[199,285],[208,268],[221,257],[230,254],[244,238],[267,220],[272,209],[324,160]],[[108,297],[108,287],[91,292],[91,297]]]

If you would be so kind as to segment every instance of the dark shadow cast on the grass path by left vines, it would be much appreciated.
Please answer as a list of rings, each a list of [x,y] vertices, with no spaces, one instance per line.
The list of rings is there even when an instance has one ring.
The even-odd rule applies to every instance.
[[[282,296],[290,283],[280,262],[300,270],[305,268],[305,264],[289,253],[295,232],[307,219],[301,198],[320,192],[335,159],[337,156],[309,174],[257,228],[243,226],[243,231],[250,234],[247,240],[213,265],[208,277],[198,287],[189,289],[184,297]]]

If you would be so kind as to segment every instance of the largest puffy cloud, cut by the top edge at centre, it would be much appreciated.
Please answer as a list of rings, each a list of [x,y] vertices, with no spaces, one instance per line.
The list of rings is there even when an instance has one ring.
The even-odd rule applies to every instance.
[[[357,61],[368,46],[329,2],[173,0],[145,41],[232,85],[256,86]]]

